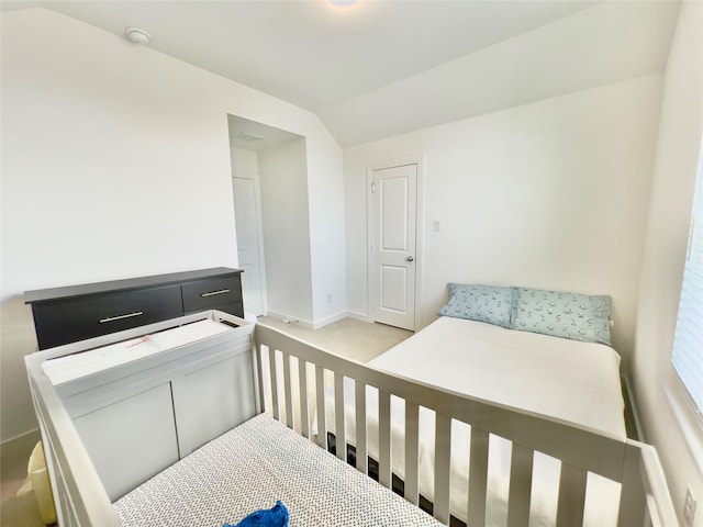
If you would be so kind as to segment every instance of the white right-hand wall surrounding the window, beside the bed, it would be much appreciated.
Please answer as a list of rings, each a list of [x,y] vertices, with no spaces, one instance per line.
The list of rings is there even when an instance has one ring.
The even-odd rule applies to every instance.
[[[683,2],[663,81],[633,377],[645,439],[657,447],[679,514],[691,486],[696,526],[703,526],[703,424],[670,360],[702,131],[703,3]]]

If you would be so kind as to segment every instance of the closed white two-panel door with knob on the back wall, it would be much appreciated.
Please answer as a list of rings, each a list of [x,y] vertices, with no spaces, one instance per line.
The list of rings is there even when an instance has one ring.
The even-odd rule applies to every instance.
[[[373,170],[376,322],[415,329],[417,165]]]

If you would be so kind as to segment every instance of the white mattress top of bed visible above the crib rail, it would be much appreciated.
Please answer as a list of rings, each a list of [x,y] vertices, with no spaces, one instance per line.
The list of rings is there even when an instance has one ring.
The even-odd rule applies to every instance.
[[[620,360],[602,344],[443,316],[370,365],[625,438]]]

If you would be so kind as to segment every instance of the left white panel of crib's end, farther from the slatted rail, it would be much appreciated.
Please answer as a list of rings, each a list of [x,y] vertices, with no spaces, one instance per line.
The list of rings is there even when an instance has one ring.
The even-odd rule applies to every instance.
[[[170,383],[74,423],[112,501],[178,461]]]

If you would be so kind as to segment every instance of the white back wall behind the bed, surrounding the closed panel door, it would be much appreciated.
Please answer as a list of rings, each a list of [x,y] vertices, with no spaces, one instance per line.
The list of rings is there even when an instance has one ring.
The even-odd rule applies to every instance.
[[[424,155],[423,324],[449,281],[604,293],[628,358],[660,85],[639,77],[345,149],[349,311],[367,314],[366,167]]]

